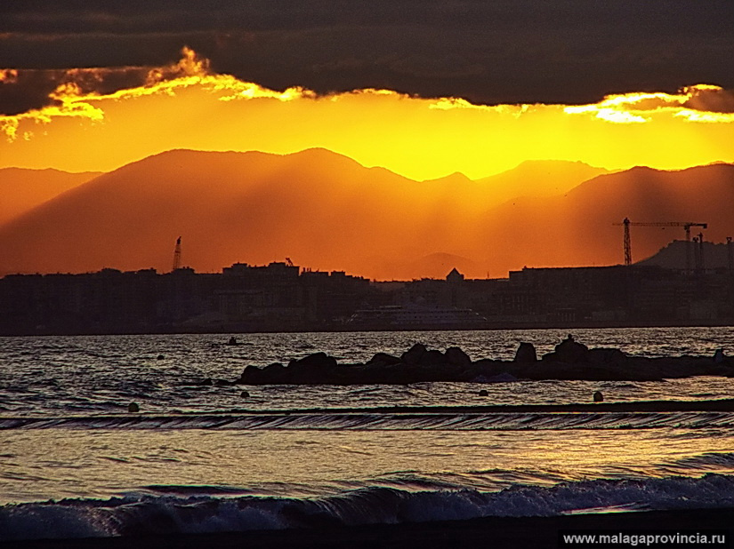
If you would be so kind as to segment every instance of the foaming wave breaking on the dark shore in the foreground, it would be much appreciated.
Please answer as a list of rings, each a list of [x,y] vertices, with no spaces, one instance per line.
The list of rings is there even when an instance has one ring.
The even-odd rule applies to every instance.
[[[223,490],[226,491],[226,490]],[[64,499],[0,507],[0,541],[298,529],[555,516],[600,509],[673,510],[734,505],[734,476],[562,482],[498,492],[354,489],[329,497],[150,496]]]

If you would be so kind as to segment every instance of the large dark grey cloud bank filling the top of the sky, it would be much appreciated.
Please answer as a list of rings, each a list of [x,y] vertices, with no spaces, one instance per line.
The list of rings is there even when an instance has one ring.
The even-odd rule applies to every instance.
[[[149,68],[189,45],[214,71],[275,89],[585,103],[734,88],[731,28],[731,0],[4,0],[0,68]],[[0,109],[18,96],[0,90]]]

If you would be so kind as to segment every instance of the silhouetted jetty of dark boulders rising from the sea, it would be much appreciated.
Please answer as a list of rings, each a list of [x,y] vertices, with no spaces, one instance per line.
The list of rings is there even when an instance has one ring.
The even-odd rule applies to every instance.
[[[247,366],[239,385],[407,385],[426,381],[512,381],[517,379],[587,379],[657,381],[690,376],[734,377],[734,360],[714,356],[645,358],[616,348],[594,348],[563,339],[553,352],[536,358],[530,343],[520,343],[513,361],[472,361],[459,347],[445,352],[418,343],[400,356],[377,353],[364,364],[340,364],[325,353],[310,354],[287,365]]]

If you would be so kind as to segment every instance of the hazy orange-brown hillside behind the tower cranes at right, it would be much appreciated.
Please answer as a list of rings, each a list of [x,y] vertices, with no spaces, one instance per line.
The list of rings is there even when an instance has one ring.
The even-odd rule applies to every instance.
[[[722,242],[734,233],[731,203],[734,165],[638,167],[585,181],[563,196],[505,203],[488,212],[475,238],[488,242],[486,258],[511,268],[616,265],[624,261],[623,227],[613,224],[625,217],[706,222],[706,240]],[[683,237],[682,227],[632,227],[633,261]]]

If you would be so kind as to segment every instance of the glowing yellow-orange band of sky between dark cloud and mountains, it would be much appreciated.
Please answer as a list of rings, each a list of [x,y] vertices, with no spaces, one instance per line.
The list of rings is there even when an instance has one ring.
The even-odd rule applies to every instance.
[[[488,107],[394,91],[271,91],[213,74],[195,52],[182,53],[177,65],[151,70],[145,86],[111,95],[81,93],[69,72],[54,107],[0,116],[0,167],[110,171],[172,148],[283,154],[309,147],[411,179],[455,171],[476,179],[527,159],[608,169],[734,162],[734,114],[722,108],[730,94],[714,84],[594,105]]]

